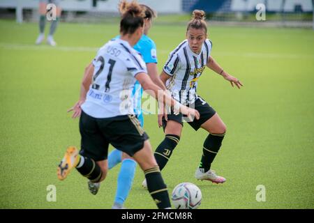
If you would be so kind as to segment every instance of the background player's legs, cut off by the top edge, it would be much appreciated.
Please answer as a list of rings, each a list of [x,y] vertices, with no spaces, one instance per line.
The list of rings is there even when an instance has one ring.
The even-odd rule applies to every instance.
[[[45,40],[45,24],[46,24],[46,13],[47,13],[47,4],[53,3],[55,6],[57,6],[57,17],[56,20],[52,20],[52,24],[50,25],[50,31],[49,35],[47,36],[47,44],[51,46],[56,46],[57,43],[54,41],[54,32],[57,29],[57,26],[59,24],[59,19],[61,16],[61,8],[60,8],[60,0],[39,0],[39,36],[36,39],[36,44],[39,45],[40,43],[43,43],[43,40]]]

